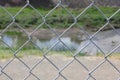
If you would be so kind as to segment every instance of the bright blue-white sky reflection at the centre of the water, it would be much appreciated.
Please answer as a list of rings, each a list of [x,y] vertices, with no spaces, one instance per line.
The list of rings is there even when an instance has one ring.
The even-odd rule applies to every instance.
[[[50,47],[54,46],[52,50],[75,50],[79,44],[74,41],[71,41],[71,38],[64,37],[58,40],[57,38],[52,38],[48,41],[41,42],[40,40],[36,41],[36,45],[39,46],[41,49],[49,49]]]

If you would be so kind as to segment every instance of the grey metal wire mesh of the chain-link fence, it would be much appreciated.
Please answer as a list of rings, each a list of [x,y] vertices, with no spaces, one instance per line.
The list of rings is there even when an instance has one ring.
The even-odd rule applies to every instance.
[[[7,13],[7,15],[9,15],[9,16],[11,17],[11,19],[12,19],[12,22],[9,23],[9,24],[6,26],[6,28],[1,31],[0,36],[2,36],[2,35],[11,27],[12,24],[15,24],[15,25],[16,25],[20,30],[22,30],[23,33],[28,37],[28,40],[27,40],[24,44],[22,44],[21,46],[19,46],[19,48],[18,48],[17,50],[12,49],[6,42],[4,42],[4,41],[2,40],[2,42],[3,42],[5,45],[7,45],[7,47],[12,51],[12,53],[13,53],[13,58],[12,58],[11,60],[9,60],[7,63],[5,63],[4,66],[1,66],[1,65],[0,65],[0,77],[1,77],[2,75],[4,75],[4,77],[7,77],[7,79],[4,79],[4,80],[14,80],[14,77],[11,77],[11,75],[8,74],[8,72],[7,72],[6,69],[7,69],[7,67],[8,67],[9,65],[12,64],[12,62],[15,61],[15,59],[17,59],[20,63],[22,63],[22,64],[24,65],[25,68],[27,68],[27,69],[29,70],[29,73],[27,74],[27,76],[25,76],[25,77],[23,78],[23,80],[31,80],[31,79],[29,79],[31,76],[34,77],[35,80],[42,80],[42,78],[40,78],[38,75],[36,75],[36,73],[34,73],[34,70],[35,70],[39,65],[42,65],[42,62],[43,62],[44,60],[47,60],[47,61],[52,65],[52,67],[54,67],[54,68],[56,69],[56,71],[57,71],[56,76],[53,78],[53,80],[59,80],[60,77],[62,77],[62,79],[64,79],[64,80],[69,80],[69,79],[63,74],[63,72],[64,72],[64,70],[67,69],[74,61],[76,61],[79,65],[81,65],[81,66],[87,71],[88,75],[86,76],[86,79],[85,79],[85,80],[91,80],[91,79],[97,80],[96,77],[93,75],[93,73],[94,73],[95,71],[97,71],[97,69],[100,68],[100,67],[101,67],[104,63],[106,63],[106,62],[108,62],[108,63],[111,65],[111,67],[113,67],[113,68],[118,72],[119,77],[120,77],[120,68],[116,67],[116,65],[114,65],[114,64],[108,59],[109,56],[112,55],[114,51],[116,51],[117,49],[119,49],[120,44],[118,44],[114,49],[112,49],[109,53],[106,54],[106,53],[101,49],[101,47],[99,47],[99,45],[96,44],[96,43],[94,42],[94,40],[93,40],[93,38],[95,38],[95,36],[96,36],[97,34],[99,34],[99,33],[101,32],[101,30],[103,30],[104,28],[106,28],[107,25],[110,25],[111,28],[114,30],[114,32],[115,32],[116,34],[118,34],[118,32],[116,31],[116,29],[114,28],[114,26],[110,23],[110,19],[111,19],[112,17],[114,17],[115,15],[117,15],[117,14],[120,12],[120,9],[118,9],[118,10],[117,10],[115,13],[113,13],[113,15],[111,15],[110,17],[107,17],[107,16],[104,14],[104,12],[94,3],[93,0],[90,0],[89,2],[91,2],[91,3],[90,3],[82,12],[80,12],[77,16],[74,16],[69,10],[67,10],[67,8],[63,6],[61,0],[58,0],[58,4],[57,4],[53,9],[51,9],[45,16],[42,15],[42,14],[38,11],[37,8],[35,8],[34,6],[32,6],[32,5],[30,4],[30,1],[29,1],[29,0],[26,0],[26,4],[25,4],[15,15],[11,14],[5,7],[0,6],[0,8],[2,8],[2,9],[5,11],[5,13]],[[25,8],[27,8],[28,6],[29,6],[30,8],[32,8],[34,11],[36,11],[36,12],[39,14],[39,16],[41,16],[41,18],[42,18],[42,19],[41,19],[41,20],[42,20],[42,23],[39,24],[32,32],[28,32],[28,31],[25,30],[22,26],[20,26],[17,22],[15,22],[15,21],[16,21],[16,17],[17,17],[18,15],[20,15],[20,13],[21,13]],[[47,23],[47,20],[46,20],[46,19],[49,17],[49,15],[50,15],[52,12],[54,12],[58,7],[61,7],[64,11],[66,11],[66,12],[68,13],[68,15],[72,16],[72,18],[73,18],[73,20],[74,20],[73,23],[72,23],[67,29],[65,29],[61,34],[58,34],[56,31],[54,31],[54,29],[51,27],[50,24]],[[83,14],[84,14],[87,10],[89,10],[91,7],[95,7],[96,10],[102,15],[102,17],[104,17],[104,18],[107,20],[107,22],[106,22],[105,24],[103,24],[103,26],[101,26],[101,27],[99,28],[99,30],[97,30],[97,31],[96,31],[94,34],[92,34],[92,35],[89,35],[88,33],[86,33],[86,32],[84,31],[84,33],[88,36],[87,39],[88,39],[89,43],[86,43],[86,44],[85,44],[84,46],[82,46],[79,50],[77,50],[77,52],[73,52],[73,51],[69,48],[69,46],[67,46],[67,45],[64,43],[64,41],[62,41],[62,36],[63,36],[64,34],[66,34],[66,33],[68,32],[68,30],[70,30],[71,28],[73,28],[74,25],[78,23],[78,18],[82,17]],[[52,32],[54,35],[57,36],[57,41],[54,42],[54,44],[52,44],[52,46],[51,46],[49,49],[45,50],[45,51],[42,51],[42,49],[40,49],[39,46],[37,46],[37,45],[32,41],[32,39],[31,39],[31,36],[32,36],[37,30],[39,30],[39,28],[41,28],[42,25],[46,25],[46,26],[51,30],[51,32]],[[120,35],[120,34],[118,34],[118,35]],[[29,42],[33,42],[33,45],[37,46],[38,49],[39,49],[40,51],[42,51],[42,53],[43,53],[42,59],[39,59],[35,64],[33,64],[32,67],[29,66],[26,62],[24,62],[23,59],[21,59],[21,58],[18,56],[19,52],[22,51],[22,49],[24,48],[24,46],[25,46],[26,44],[28,44]],[[64,47],[68,48],[68,50],[70,51],[70,53],[71,53],[71,55],[72,55],[72,59],[71,59],[70,61],[68,61],[68,62],[67,62],[64,66],[62,66],[62,67],[59,67],[57,64],[55,64],[55,62],[52,61],[52,60],[49,58],[49,56],[48,56],[48,54],[49,54],[49,52],[51,52],[52,48],[56,47],[56,45],[58,45],[59,42],[60,42]],[[86,47],[88,47],[91,43],[98,48],[98,50],[104,55],[104,58],[103,58],[102,61],[100,61],[94,68],[89,69],[88,66],[86,66],[81,60],[78,59],[78,55],[79,55],[79,53],[80,53],[82,50],[84,50]],[[48,66],[46,66],[46,67],[48,67]],[[14,69],[14,68],[13,68],[13,69]],[[12,72],[11,72],[11,73],[12,73]],[[23,73],[24,73],[24,72],[23,72]],[[22,74],[23,74],[23,73],[22,73]],[[52,73],[51,73],[51,74],[52,74]],[[76,73],[76,74],[78,74],[78,73]],[[47,75],[47,74],[46,74],[46,75]],[[74,74],[74,75],[75,75],[75,74]],[[106,77],[108,77],[108,76],[106,76]],[[80,79],[78,79],[78,80],[80,80]],[[120,80],[120,78],[118,78],[118,80]]]

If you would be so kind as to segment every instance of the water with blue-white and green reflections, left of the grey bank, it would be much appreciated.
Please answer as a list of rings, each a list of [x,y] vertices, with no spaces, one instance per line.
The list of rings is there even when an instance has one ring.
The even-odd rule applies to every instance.
[[[25,36],[4,35],[1,37],[1,40],[3,41],[1,47],[19,48],[26,41],[28,41],[28,38]],[[76,50],[78,46],[79,43],[72,41],[70,37],[62,37],[60,39],[54,37],[47,40],[32,37],[30,42],[26,44],[24,48],[30,49],[39,47],[40,49],[50,49],[52,47],[51,50],[64,51],[64,50]]]

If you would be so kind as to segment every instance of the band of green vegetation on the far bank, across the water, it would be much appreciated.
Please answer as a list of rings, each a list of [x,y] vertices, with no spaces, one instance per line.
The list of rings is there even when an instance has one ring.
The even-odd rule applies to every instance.
[[[38,11],[36,11],[27,7],[19,12],[19,15],[16,15],[21,7],[6,7],[6,9],[10,12],[10,14],[12,14],[12,16],[15,16],[15,22],[23,28],[35,28],[39,26],[44,21],[43,17],[45,17],[46,23],[52,28],[67,28],[74,23],[73,16],[77,17],[84,10],[57,8],[47,15],[50,9],[38,8]],[[100,9],[107,17],[110,17],[119,9],[119,7],[100,7]],[[0,8],[0,29],[4,29],[13,21],[10,14],[8,14],[4,9]],[[79,25],[74,25],[73,27],[82,26],[98,29],[106,22],[106,18],[96,8],[92,7],[82,14],[82,16],[77,18],[77,23]],[[113,16],[110,19],[110,22],[114,27],[120,27],[119,13]],[[16,24],[12,24],[11,26],[17,27]],[[42,25],[41,27],[48,28],[47,25]]]

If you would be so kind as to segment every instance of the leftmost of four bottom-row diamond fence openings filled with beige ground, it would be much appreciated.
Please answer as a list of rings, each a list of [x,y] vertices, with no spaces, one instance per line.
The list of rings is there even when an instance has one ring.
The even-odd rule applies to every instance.
[[[9,65],[7,65],[2,71],[9,75],[13,80],[20,78],[24,79],[29,74],[29,68],[17,59],[14,59],[11,63],[9,63]],[[22,75],[24,73],[25,75]]]

